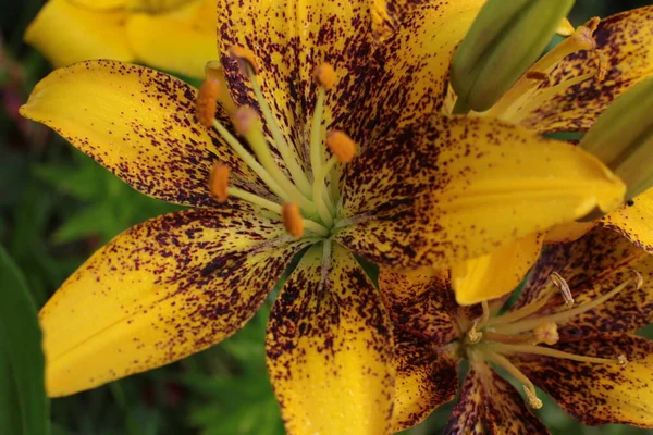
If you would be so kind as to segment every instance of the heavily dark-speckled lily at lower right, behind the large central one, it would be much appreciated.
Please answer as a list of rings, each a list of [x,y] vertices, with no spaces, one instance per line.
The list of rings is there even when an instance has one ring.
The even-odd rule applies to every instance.
[[[596,228],[547,249],[503,314],[506,298],[457,306],[446,273],[382,271],[380,287],[395,327],[394,431],[456,397],[461,359],[445,434],[549,434],[526,406],[542,406],[535,387],[583,424],[653,427],[653,340],[634,335],[652,319],[653,257],[621,235]]]

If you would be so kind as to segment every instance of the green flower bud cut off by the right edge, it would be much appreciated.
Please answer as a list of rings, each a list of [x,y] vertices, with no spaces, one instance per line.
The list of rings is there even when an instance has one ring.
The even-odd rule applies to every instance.
[[[653,186],[653,77],[619,96],[592,125],[580,146],[624,183],[626,199]]]

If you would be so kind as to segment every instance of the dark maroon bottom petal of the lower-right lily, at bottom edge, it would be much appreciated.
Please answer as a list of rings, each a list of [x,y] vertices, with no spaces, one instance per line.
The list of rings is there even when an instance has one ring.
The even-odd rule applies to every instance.
[[[519,391],[485,364],[476,364],[465,378],[458,403],[444,435],[549,434],[526,407]]]

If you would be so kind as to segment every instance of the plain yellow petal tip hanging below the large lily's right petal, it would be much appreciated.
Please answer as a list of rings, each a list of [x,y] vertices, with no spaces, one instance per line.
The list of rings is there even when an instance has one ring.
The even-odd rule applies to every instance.
[[[452,268],[456,301],[461,306],[495,299],[513,291],[538,260],[543,237],[531,234],[483,257]]]

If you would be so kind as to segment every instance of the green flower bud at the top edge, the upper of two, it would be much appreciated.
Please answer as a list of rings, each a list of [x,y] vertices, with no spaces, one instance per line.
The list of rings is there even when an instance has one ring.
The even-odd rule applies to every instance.
[[[454,113],[490,109],[542,54],[574,0],[489,0],[456,50]]]

